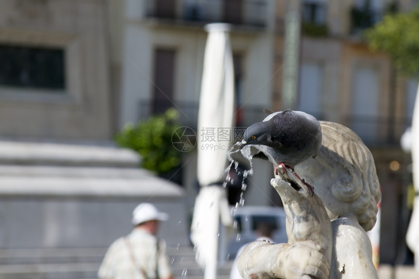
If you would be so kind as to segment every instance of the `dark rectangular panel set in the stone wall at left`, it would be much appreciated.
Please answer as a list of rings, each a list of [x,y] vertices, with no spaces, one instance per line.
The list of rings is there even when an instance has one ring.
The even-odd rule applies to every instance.
[[[2,44],[0,61],[0,85],[39,89],[65,88],[62,49]]]

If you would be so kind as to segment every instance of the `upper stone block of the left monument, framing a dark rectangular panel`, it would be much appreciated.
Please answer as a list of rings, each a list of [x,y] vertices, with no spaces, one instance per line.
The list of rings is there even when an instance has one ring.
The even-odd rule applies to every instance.
[[[112,111],[104,3],[0,5],[1,136],[108,140]]]

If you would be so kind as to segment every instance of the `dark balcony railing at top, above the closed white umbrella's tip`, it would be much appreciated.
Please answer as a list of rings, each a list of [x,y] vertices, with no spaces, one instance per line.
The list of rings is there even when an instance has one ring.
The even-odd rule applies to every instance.
[[[265,27],[266,0],[145,0],[146,17],[195,23]]]

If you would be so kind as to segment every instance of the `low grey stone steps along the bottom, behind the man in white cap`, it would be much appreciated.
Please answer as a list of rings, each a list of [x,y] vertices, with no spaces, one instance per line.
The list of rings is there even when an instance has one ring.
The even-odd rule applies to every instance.
[[[93,279],[106,248],[0,249],[1,279]],[[202,279],[192,247],[169,247],[175,278]],[[219,264],[217,279],[228,279],[230,262]]]

